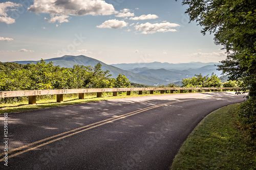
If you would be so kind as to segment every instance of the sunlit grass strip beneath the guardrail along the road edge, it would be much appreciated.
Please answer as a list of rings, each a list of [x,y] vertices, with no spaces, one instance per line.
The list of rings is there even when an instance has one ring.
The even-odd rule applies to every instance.
[[[56,103],[56,96],[53,99],[37,99],[35,105],[28,105],[28,100],[24,100],[22,102],[14,102],[12,104],[1,104],[0,105],[0,114],[4,113],[12,113],[12,112],[22,112],[27,110],[35,110],[35,109],[45,109],[51,107],[58,106],[68,106],[68,105],[76,105],[88,102],[96,102],[96,101],[104,101],[111,99],[122,99],[122,98],[133,98],[137,96],[147,96],[147,95],[158,95],[160,93],[155,94],[142,94],[138,95],[136,92],[132,92],[131,95],[126,95],[126,93],[119,94],[118,96],[112,96],[112,93],[103,93],[102,98],[96,98],[95,95],[85,95],[83,100],[78,100],[78,95],[64,95],[63,103]]]

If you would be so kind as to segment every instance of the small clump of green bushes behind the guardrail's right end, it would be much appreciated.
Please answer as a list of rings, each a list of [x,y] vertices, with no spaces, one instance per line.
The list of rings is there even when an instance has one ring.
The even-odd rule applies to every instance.
[[[182,79],[183,87],[221,87],[221,80],[217,75],[212,72],[211,77],[209,75],[202,76],[195,75],[190,79]]]

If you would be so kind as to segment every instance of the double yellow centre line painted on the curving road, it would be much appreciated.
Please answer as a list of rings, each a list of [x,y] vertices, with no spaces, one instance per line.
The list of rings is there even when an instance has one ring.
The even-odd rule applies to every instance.
[[[99,126],[102,126],[102,125],[105,125],[105,124],[112,123],[112,122],[114,122],[116,120],[119,120],[119,119],[122,119],[122,118],[126,118],[126,117],[129,117],[129,116],[132,116],[132,115],[135,115],[135,114],[147,111],[147,110],[151,110],[151,109],[154,109],[154,108],[158,108],[158,107],[164,106],[164,105],[169,105],[169,104],[174,104],[174,103],[179,103],[179,102],[192,101],[192,100],[197,100],[197,99],[167,102],[167,103],[163,103],[163,104],[147,107],[147,108],[140,109],[140,110],[137,110],[137,111],[133,111],[133,112],[130,112],[130,113],[122,114],[122,115],[119,115],[119,116],[116,116],[116,117],[112,117],[112,118],[108,118],[108,119],[105,119],[105,120],[101,120],[99,122],[96,122],[96,123],[93,123],[93,124],[90,124],[90,125],[87,125],[87,126],[83,126],[83,127],[77,128],[77,129],[73,129],[73,130],[68,131],[68,132],[60,133],[58,135],[54,135],[54,136],[51,136],[51,137],[48,137],[48,138],[45,138],[45,139],[42,139],[42,140],[38,140],[36,142],[24,145],[23,147],[19,147],[19,148],[16,148],[16,149],[13,149],[13,150],[9,151],[8,152],[8,159],[12,158],[12,157],[15,157],[17,155],[26,153],[28,151],[32,151],[34,149],[37,149],[37,148],[42,147],[44,145],[47,145],[49,143],[55,142],[57,140],[60,140],[60,139],[63,139],[63,138],[69,137],[69,136],[73,136],[75,134],[78,134],[78,133],[81,133],[81,132],[84,132],[84,131],[87,131],[87,130],[90,130],[90,129],[93,129],[93,128],[96,128],[96,127],[99,127]],[[60,137],[60,136],[62,136],[62,137]],[[41,143],[41,142],[44,142],[44,143]],[[41,143],[41,144],[39,144],[39,143]],[[35,145],[35,146],[32,147],[33,145]],[[32,147],[32,148],[29,148],[29,147]],[[26,149],[26,148],[28,148],[28,149]],[[26,149],[26,150],[23,150],[23,149]],[[19,151],[19,150],[23,150],[23,151]],[[16,152],[16,151],[19,151],[19,152]],[[12,155],[9,155],[10,153],[13,153],[13,152],[16,152],[16,153],[12,154]],[[5,154],[6,153],[4,152],[4,153],[0,154],[0,156],[3,156]],[[4,161],[4,160],[5,160],[5,158],[2,158],[2,159],[0,159],[0,162]]]

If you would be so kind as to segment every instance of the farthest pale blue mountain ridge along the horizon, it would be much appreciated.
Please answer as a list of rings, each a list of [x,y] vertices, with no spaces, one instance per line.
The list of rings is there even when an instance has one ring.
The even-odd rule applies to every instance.
[[[124,70],[130,70],[134,68],[150,68],[150,69],[178,69],[178,70],[186,70],[188,68],[201,68],[206,65],[219,65],[219,63],[209,62],[209,63],[202,63],[202,62],[190,62],[190,63],[178,63],[178,64],[172,64],[172,63],[161,63],[161,62],[152,62],[152,63],[130,63],[130,64],[111,64],[112,66],[124,69]]]

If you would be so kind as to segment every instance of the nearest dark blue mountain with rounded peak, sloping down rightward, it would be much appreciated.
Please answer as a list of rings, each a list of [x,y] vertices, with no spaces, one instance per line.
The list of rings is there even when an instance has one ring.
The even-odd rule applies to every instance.
[[[63,56],[58,58],[51,58],[45,60],[47,63],[52,61],[54,65],[59,65],[60,67],[70,67],[72,68],[73,65],[79,64],[79,65],[91,65],[94,66],[97,63],[100,63],[102,65],[102,70],[110,70],[110,74],[113,78],[116,78],[119,74],[125,75],[131,82],[133,83],[139,83],[139,84],[145,84],[145,85],[155,85],[155,84],[168,84],[166,80],[157,78],[157,77],[147,77],[144,75],[135,74],[131,71],[122,70],[120,68],[117,68],[112,65],[105,64],[99,60],[86,57],[86,56]],[[27,64],[27,63],[36,63],[38,61],[13,61],[15,63],[19,64]]]

